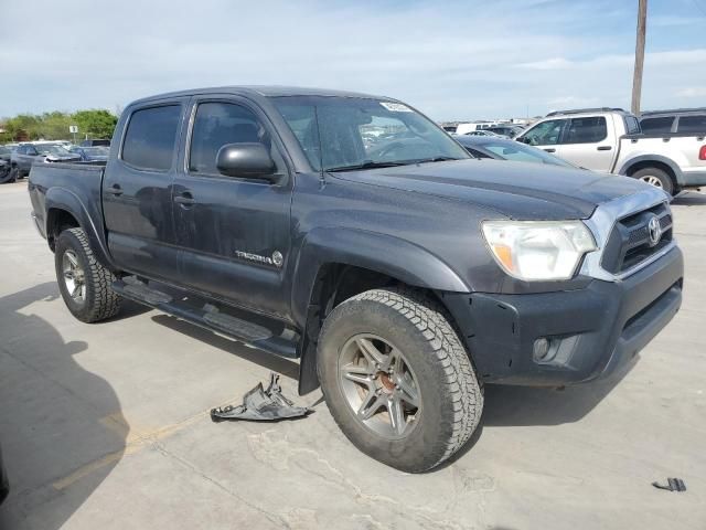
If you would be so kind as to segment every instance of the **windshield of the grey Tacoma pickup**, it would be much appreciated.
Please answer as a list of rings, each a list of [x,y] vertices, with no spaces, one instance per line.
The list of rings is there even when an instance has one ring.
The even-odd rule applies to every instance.
[[[469,158],[441,128],[402,103],[328,96],[271,99],[317,170]]]

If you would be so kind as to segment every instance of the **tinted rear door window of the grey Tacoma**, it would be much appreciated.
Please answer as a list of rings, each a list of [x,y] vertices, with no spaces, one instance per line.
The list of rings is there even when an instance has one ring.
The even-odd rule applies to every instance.
[[[121,159],[136,169],[168,171],[174,158],[181,118],[180,104],[135,110],[122,141]]]

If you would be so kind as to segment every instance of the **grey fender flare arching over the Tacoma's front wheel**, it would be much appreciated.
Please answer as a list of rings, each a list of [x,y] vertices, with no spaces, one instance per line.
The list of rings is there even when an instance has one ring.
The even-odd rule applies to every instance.
[[[314,229],[303,239],[295,268],[291,300],[295,321],[306,321],[317,274],[327,263],[367,268],[417,287],[471,290],[442,259],[409,241],[364,230]]]

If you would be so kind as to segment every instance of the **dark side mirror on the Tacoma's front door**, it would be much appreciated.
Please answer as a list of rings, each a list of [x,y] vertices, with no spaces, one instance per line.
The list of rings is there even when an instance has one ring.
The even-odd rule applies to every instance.
[[[227,177],[264,179],[276,183],[281,174],[263,144],[227,144],[218,149],[216,168]]]

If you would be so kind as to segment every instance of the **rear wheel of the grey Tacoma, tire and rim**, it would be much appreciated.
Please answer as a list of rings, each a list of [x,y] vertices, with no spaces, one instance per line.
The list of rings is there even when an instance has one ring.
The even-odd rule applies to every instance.
[[[64,304],[78,320],[97,322],[120,310],[121,298],[110,288],[116,277],[98,263],[82,229],[60,234],[54,264]]]

